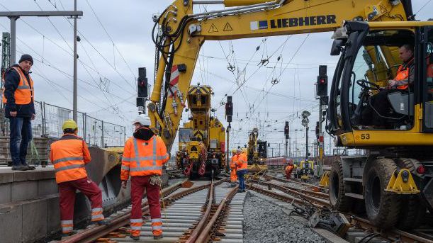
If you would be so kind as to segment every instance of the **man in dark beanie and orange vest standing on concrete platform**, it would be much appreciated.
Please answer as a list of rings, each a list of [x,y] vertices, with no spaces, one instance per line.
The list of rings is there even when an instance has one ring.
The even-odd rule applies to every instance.
[[[10,123],[9,148],[11,151],[12,170],[33,170],[26,162],[28,143],[32,140],[32,124],[35,119],[33,80],[30,68],[33,58],[24,54],[18,64],[6,70],[4,76],[3,103],[6,118]]]

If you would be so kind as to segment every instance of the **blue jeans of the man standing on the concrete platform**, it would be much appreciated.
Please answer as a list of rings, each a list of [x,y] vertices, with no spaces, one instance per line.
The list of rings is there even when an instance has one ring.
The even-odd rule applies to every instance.
[[[32,140],[32,123],[30,118],[10,117],[11,134],[10,149],[12,164],[19,166],[20,164],[27,165],[26,155],[28,143]]]

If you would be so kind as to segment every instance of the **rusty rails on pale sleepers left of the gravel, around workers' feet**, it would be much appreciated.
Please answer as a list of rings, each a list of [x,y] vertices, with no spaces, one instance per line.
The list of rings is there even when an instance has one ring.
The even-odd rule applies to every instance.
[[[164,238],[154,240],[150,226],[147,200],[142,200],[140,242],[243,242],[243,203],[246,193],[220,181],[194,181],[185,188],[184,181],[162,191],[162,222]],[[187,186],[188,187],[188,186]],[[131,206],[108,217],[110,225],[91,226],[60,242],[136,242],[129,237]]]

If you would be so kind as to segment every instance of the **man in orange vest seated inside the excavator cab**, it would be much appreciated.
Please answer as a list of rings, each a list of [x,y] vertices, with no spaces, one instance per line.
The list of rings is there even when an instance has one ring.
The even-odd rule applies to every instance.
[[[371,120],[375,128],[384,129],[386,124],[386,113],[390,109],[388,94],[394,92],[407,93],[415,79],[414,48],[410,44],[402,45],[399,49],[399,57],[403,64],[398,67],[395,78],[388,81],[388,86],[381,89],[378,94],[371,96],[370,106],[363,113],[363,120]]]

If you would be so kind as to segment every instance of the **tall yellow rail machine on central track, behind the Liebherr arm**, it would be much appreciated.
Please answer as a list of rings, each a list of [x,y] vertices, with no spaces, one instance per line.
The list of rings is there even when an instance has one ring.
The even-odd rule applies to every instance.
[[[225,168],[225,128],[210,115],[210,86],[189,86],[186,100],[191,111],[189,122],[179,129],[176,165],[186,176],[212,177]]]

